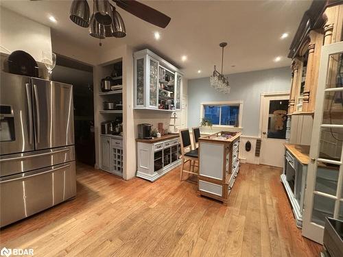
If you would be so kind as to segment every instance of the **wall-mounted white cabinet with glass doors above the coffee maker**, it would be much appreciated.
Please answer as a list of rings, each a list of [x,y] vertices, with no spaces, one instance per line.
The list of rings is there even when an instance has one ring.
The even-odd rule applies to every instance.
[[[134,53],[134,108],[178,111],[182,74],[152,51]]]

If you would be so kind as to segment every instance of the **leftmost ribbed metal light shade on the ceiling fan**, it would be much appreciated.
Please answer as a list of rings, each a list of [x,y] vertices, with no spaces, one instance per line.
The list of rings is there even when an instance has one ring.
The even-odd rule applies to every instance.
[[[89,26],[89,5],[86,0],[73,0],[70,8],[69,18],[73,23],[81,26]]]

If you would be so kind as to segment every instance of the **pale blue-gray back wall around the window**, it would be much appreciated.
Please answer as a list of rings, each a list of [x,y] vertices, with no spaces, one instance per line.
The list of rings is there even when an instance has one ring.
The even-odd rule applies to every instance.
[[[188,80],[188,127],[199,125],[200,103],[203,101],[243,100],[243,134],[258,136],[261,93],[290,90],[291,69],[283,67],[236,73],[228,75],[228,81],[230,94],[225,95],[209,86],[209,77]]]

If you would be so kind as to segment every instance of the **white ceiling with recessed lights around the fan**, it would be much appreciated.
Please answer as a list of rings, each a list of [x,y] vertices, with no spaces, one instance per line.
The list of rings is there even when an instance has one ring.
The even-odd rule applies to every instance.
[[[91,0],[88,0],[91,9]],[[206,77],[216,64],[220,70],[221,49],[226,41],[224,73],[257,71],[290,64],[289,45],[303,13],[311,1],[143,1],[150,7],[171,17],[165,29],[138,19],[117,8],[126,25],[126,38],[99,40],[88,36],[85,28],[69,20],[71,1],[1,0],[5,8],[18,12],[34,21],[52,27],[52,33],[66,40],[80,43],[80,47],[102,51],[128,44],[137,49],[150,48],[176,66],[188,78]],[[51,23],[48,16],[56,17]],[[161,39],[154,39],[154,32]],[[289,37],[281,40],[284,32]],[[182,62],[181,56],[187,61]],[[280,62],[274,62],[281,56]],[[235,65],[235,67],[233,67]],[[198,70],[201,73],[198,74]]]

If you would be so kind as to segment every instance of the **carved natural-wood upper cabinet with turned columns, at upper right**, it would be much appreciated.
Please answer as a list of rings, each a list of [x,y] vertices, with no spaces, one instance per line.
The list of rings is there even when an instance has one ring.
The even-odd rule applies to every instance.
[[[341,4],[339,4],[341,3]],[[288,114],[314,114],[322,45],[342,40],[342,1],[314,1],[292,41]]]

